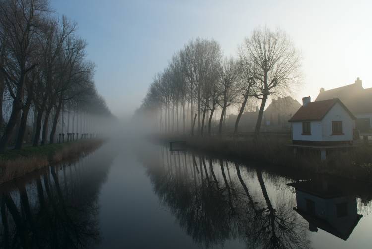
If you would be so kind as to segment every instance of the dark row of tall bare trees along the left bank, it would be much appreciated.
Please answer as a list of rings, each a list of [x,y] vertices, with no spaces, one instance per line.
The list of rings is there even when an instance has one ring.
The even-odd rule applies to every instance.
[[[93,82],[87,42],[76,30],[47,0],[0,0],[0,151],[12,137],[15,148],[22,148],[30,117],[32,144],[38,146],[55,142],[57,128],[64,132],[64,113],[67,132],[70,113],[111,116]]]

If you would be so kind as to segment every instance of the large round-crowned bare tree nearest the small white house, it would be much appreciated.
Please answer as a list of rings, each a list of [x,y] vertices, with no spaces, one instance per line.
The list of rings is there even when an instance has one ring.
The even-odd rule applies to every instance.
[[[284,31],[257,28],[243,45],[244,53],[255,64],[257,79],[255,97],[261,100],[255,128],[258,139],[263,110],[270,95],[288,92],[298,82],[300,58],[297,50]]]

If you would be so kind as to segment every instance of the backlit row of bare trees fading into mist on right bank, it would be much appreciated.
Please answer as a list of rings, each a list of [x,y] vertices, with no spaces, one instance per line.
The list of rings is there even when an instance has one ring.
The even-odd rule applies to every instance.
[[[292,92],[300,80],[299,69],[299,52],[280,29],[256,28],[240,44],[236,57],[223,56],[213,39],[197,38],[185,44],[164,71],[156,74],[136,114],[151,115],[165,133],[189,129],[192,135],[203,135],[211,133],[219,111],[216,119],[221,134],[226,110],[237,106],[237,133],[247,102],[258,100],[258,138],[268,98]]]

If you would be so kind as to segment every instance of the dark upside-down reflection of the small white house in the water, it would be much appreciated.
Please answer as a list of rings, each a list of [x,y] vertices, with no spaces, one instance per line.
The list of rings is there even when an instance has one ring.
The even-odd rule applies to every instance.
[[[362,215],[357,213],[355,196],[327,180],[308,180],[288,184],[296,190],[297,207],[293,208],[309,222],[309,230],[318,228],[347,240]]]

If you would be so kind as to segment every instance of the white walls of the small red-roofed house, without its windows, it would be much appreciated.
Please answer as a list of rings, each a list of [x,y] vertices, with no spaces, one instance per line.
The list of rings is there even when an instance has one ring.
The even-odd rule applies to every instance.
[[[332,121],[342,121],[343,135],[332,135]],[[322,121],[311,121],[311,135],[302,135],[302,122],[292,123],[292,139],[301,141],[351,141],[354,120],[348,112],[336,103]]]

